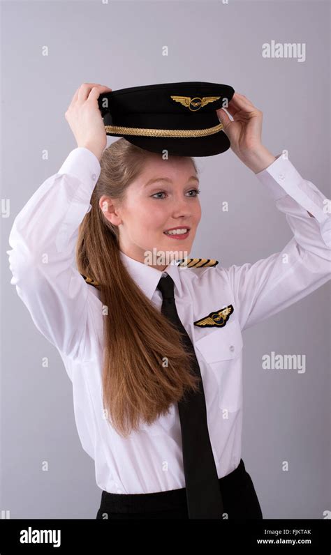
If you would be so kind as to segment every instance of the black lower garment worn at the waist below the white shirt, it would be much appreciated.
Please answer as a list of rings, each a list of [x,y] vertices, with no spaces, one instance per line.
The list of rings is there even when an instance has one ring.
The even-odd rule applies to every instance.
[[[219,478],[223,512],[228,519],[262,519],[251,476],[240,459],[237,468]],[[225,518],[226,515],[223,515]],[[113,494],[103,491],[97,519],[189,519],[185,488],[149,494]]]

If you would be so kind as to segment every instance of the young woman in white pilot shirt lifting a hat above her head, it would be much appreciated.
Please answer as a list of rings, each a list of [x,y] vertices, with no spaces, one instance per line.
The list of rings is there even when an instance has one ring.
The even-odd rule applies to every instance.
[[[235,93],[233,121],[217,111],[224,132],[286,213],[293,238],[282,252],[230,268],[209,259],[179,265],[150,258],[155,250],[189,256],[201,218],[198,169],[193,158],[165,162],[124,138],[105,149],[98,109],[104,91],[111,89],[87,83],[75,92],[66,119],[78,147],[17,215],[7,251],[11,283],[73,383],[82,447],[102,490],[97,518],[194,514],[187,468],[203,496],[207,448],[183,465],[182,399],[196,395],[200,383],[193,359],[223,502],[219,517],[262,518],[241,459],[242,330],[330,279],[325,196],[286,157],[267,151],[263,114]],[[170,304],[182,333],[166,315]]]

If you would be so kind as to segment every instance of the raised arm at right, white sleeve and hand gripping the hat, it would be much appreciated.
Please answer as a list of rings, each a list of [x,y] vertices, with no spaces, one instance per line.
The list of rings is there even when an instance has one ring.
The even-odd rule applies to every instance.
[[[244,330],[330,280],[330,200],[302,178],[286,155],[275,157],[263,146],[263,114],[248,98],[235,93],[226,109],[233,121],[223,109],[217,114],[231,149],[270,192],[293,231],[281,252],[254,264],[226,268]]]

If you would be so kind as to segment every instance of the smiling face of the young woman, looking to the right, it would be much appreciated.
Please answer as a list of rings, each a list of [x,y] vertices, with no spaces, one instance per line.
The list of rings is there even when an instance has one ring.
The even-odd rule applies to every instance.
[[[154,180],[158,181],[154,181]],[[152,181],[152,182],[151,182]],[[163,160],[153,154],[142,174],[126,189],[122,203],[101,197],[105,218],[119,227],[119,248],[135,260],[163,271],[170,261],[189,257],[201,218],[199,182],[189,158]],[[103,204],[104,203],[104,204]],[[110,204],[111,203],[111,204]],[[169,236],[168,229],[189,228],[188,234]],[[153,256],[154,254],[154,256]],[[160,257],[163,256],[163,261]]]

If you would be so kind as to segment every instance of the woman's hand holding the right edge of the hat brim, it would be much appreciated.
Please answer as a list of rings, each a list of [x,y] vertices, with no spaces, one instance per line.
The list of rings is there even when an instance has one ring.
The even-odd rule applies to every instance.
[[[226,110],[216,110],[223,132],[230,140],[230,148],[253,172],[261,172],[270,166],[276,157],[261,142],[263,113],[246,96],[234,93]]]

